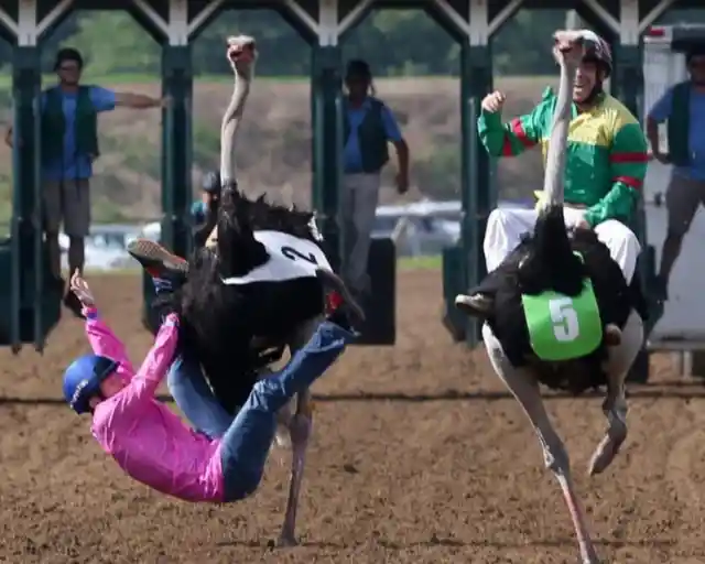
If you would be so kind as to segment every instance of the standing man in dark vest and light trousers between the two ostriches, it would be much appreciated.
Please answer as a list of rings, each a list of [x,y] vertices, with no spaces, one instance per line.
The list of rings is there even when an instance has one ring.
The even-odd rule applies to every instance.
[[[380,174],[397,150],[397,191],[409,189],[409,147],[394,116],[375,97],[372,74],[365,61],[350,61],[345,76],[343,120],[345,152],[340,209],[345,242],[344,278],[358,296],[369,292],[367,259],[379,202]]]

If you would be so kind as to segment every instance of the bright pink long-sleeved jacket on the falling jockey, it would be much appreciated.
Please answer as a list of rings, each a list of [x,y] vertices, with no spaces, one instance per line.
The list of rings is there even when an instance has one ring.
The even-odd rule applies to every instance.
[[[119,361],[117,373],[126,382],[120,393],[95,409],[91,431],[100,446],[129,476],[158,491],[187,501],[221,502],[220,441],[196,433],[154,398],[173,360],[178,317],[165,319],[135,372],[124,346],[97,311],[87,308],[84,314],[94,352]]]

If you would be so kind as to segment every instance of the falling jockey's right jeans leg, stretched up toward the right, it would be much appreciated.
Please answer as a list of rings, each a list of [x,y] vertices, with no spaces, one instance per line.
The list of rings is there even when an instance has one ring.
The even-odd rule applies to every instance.
[[[276,432],[276,412],[323,376],[352,337],[338,325],[325,322],[280,372],[254,384],[223,436],[224,501],[240,500],[257,489]]]

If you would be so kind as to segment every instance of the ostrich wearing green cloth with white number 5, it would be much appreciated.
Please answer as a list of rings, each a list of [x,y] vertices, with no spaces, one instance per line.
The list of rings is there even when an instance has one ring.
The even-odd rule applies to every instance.
[[[623,384],[641,347],[643,325],[609,248],[594,229],[584,225],[566,229],[565,225],[573,85],[578,67],[588,73],[590,64],[597,65],[592,72],[601,73],[600,80],[609,76],[609,45],[589,30],[561,31],[554,39],[561,79],[546,143],[539,217],[533,231],[487,276],[496,292],[482,311],[482,339],[497,376],[521,404],[539,436],[545,466],[561,486],[579,562],[597,564],[600,560],[572,479],[567,451],[543,405],[539,383],[573,393],[607,387],[603,411],[608,429],[589,463],[590,475],[605,471],[627,437]],[[476,315],[477,292],[456,296],[458,308]]]

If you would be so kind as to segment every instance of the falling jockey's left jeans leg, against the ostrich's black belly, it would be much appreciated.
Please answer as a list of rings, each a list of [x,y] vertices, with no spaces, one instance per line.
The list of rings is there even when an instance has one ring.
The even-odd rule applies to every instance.
[[[209,438],[220,438],[232,424],[206,381],[200,362],[193,354],[177,352],[166,376],[169,391],[176,405],[196,431]]]

